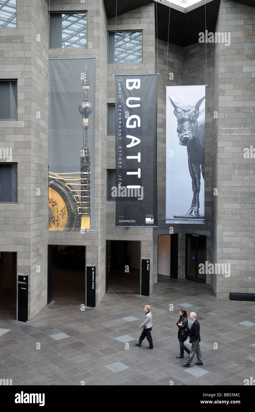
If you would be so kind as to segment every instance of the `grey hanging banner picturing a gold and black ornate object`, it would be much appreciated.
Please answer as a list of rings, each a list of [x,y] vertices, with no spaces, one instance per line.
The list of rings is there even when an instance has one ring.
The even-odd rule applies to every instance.
[[[49,60],[49,230],[95,230],[95,59]]]

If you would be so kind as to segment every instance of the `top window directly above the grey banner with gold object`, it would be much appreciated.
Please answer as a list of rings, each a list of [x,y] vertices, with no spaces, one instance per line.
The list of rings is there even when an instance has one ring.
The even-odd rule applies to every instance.
[[[87,47],[87,13],[51,13],[50,47]]]

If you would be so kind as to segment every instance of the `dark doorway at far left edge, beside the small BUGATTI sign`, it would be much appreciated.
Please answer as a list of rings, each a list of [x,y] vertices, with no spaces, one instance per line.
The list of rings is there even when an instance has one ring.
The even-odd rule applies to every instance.
[[[17,253],[0,252],[0,308],[2,318],[16,319]]]

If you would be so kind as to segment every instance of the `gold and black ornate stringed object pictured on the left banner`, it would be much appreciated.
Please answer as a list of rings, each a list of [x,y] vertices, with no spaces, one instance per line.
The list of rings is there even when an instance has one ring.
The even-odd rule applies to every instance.
[[[70,173],[49,172],[49,230],[90,230],[90,151],[87,131],[89,128],[88,117],[92,112],[92,105],[88,101],[90,80],[87,66],[83,73],[82,87],[83,101],[79,106],[79,112],[83,116],[83,147],[80,151],[80,171]]]

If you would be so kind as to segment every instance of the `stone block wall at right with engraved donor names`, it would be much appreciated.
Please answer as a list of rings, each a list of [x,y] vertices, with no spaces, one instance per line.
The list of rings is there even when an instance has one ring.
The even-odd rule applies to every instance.
[[[255,292],[255,7],[221,0],[217,31],[230,33],[230,45],[217,44],[215,77],[218,121],[214,125],[218,183],[214,263],[231,265],[230,276],[214,275],[217,296]],[[216,109],[217,110],[217,109]],[[247,150],[245,150],[247,148]],[[228,275],[228,274],[227,274]]]

